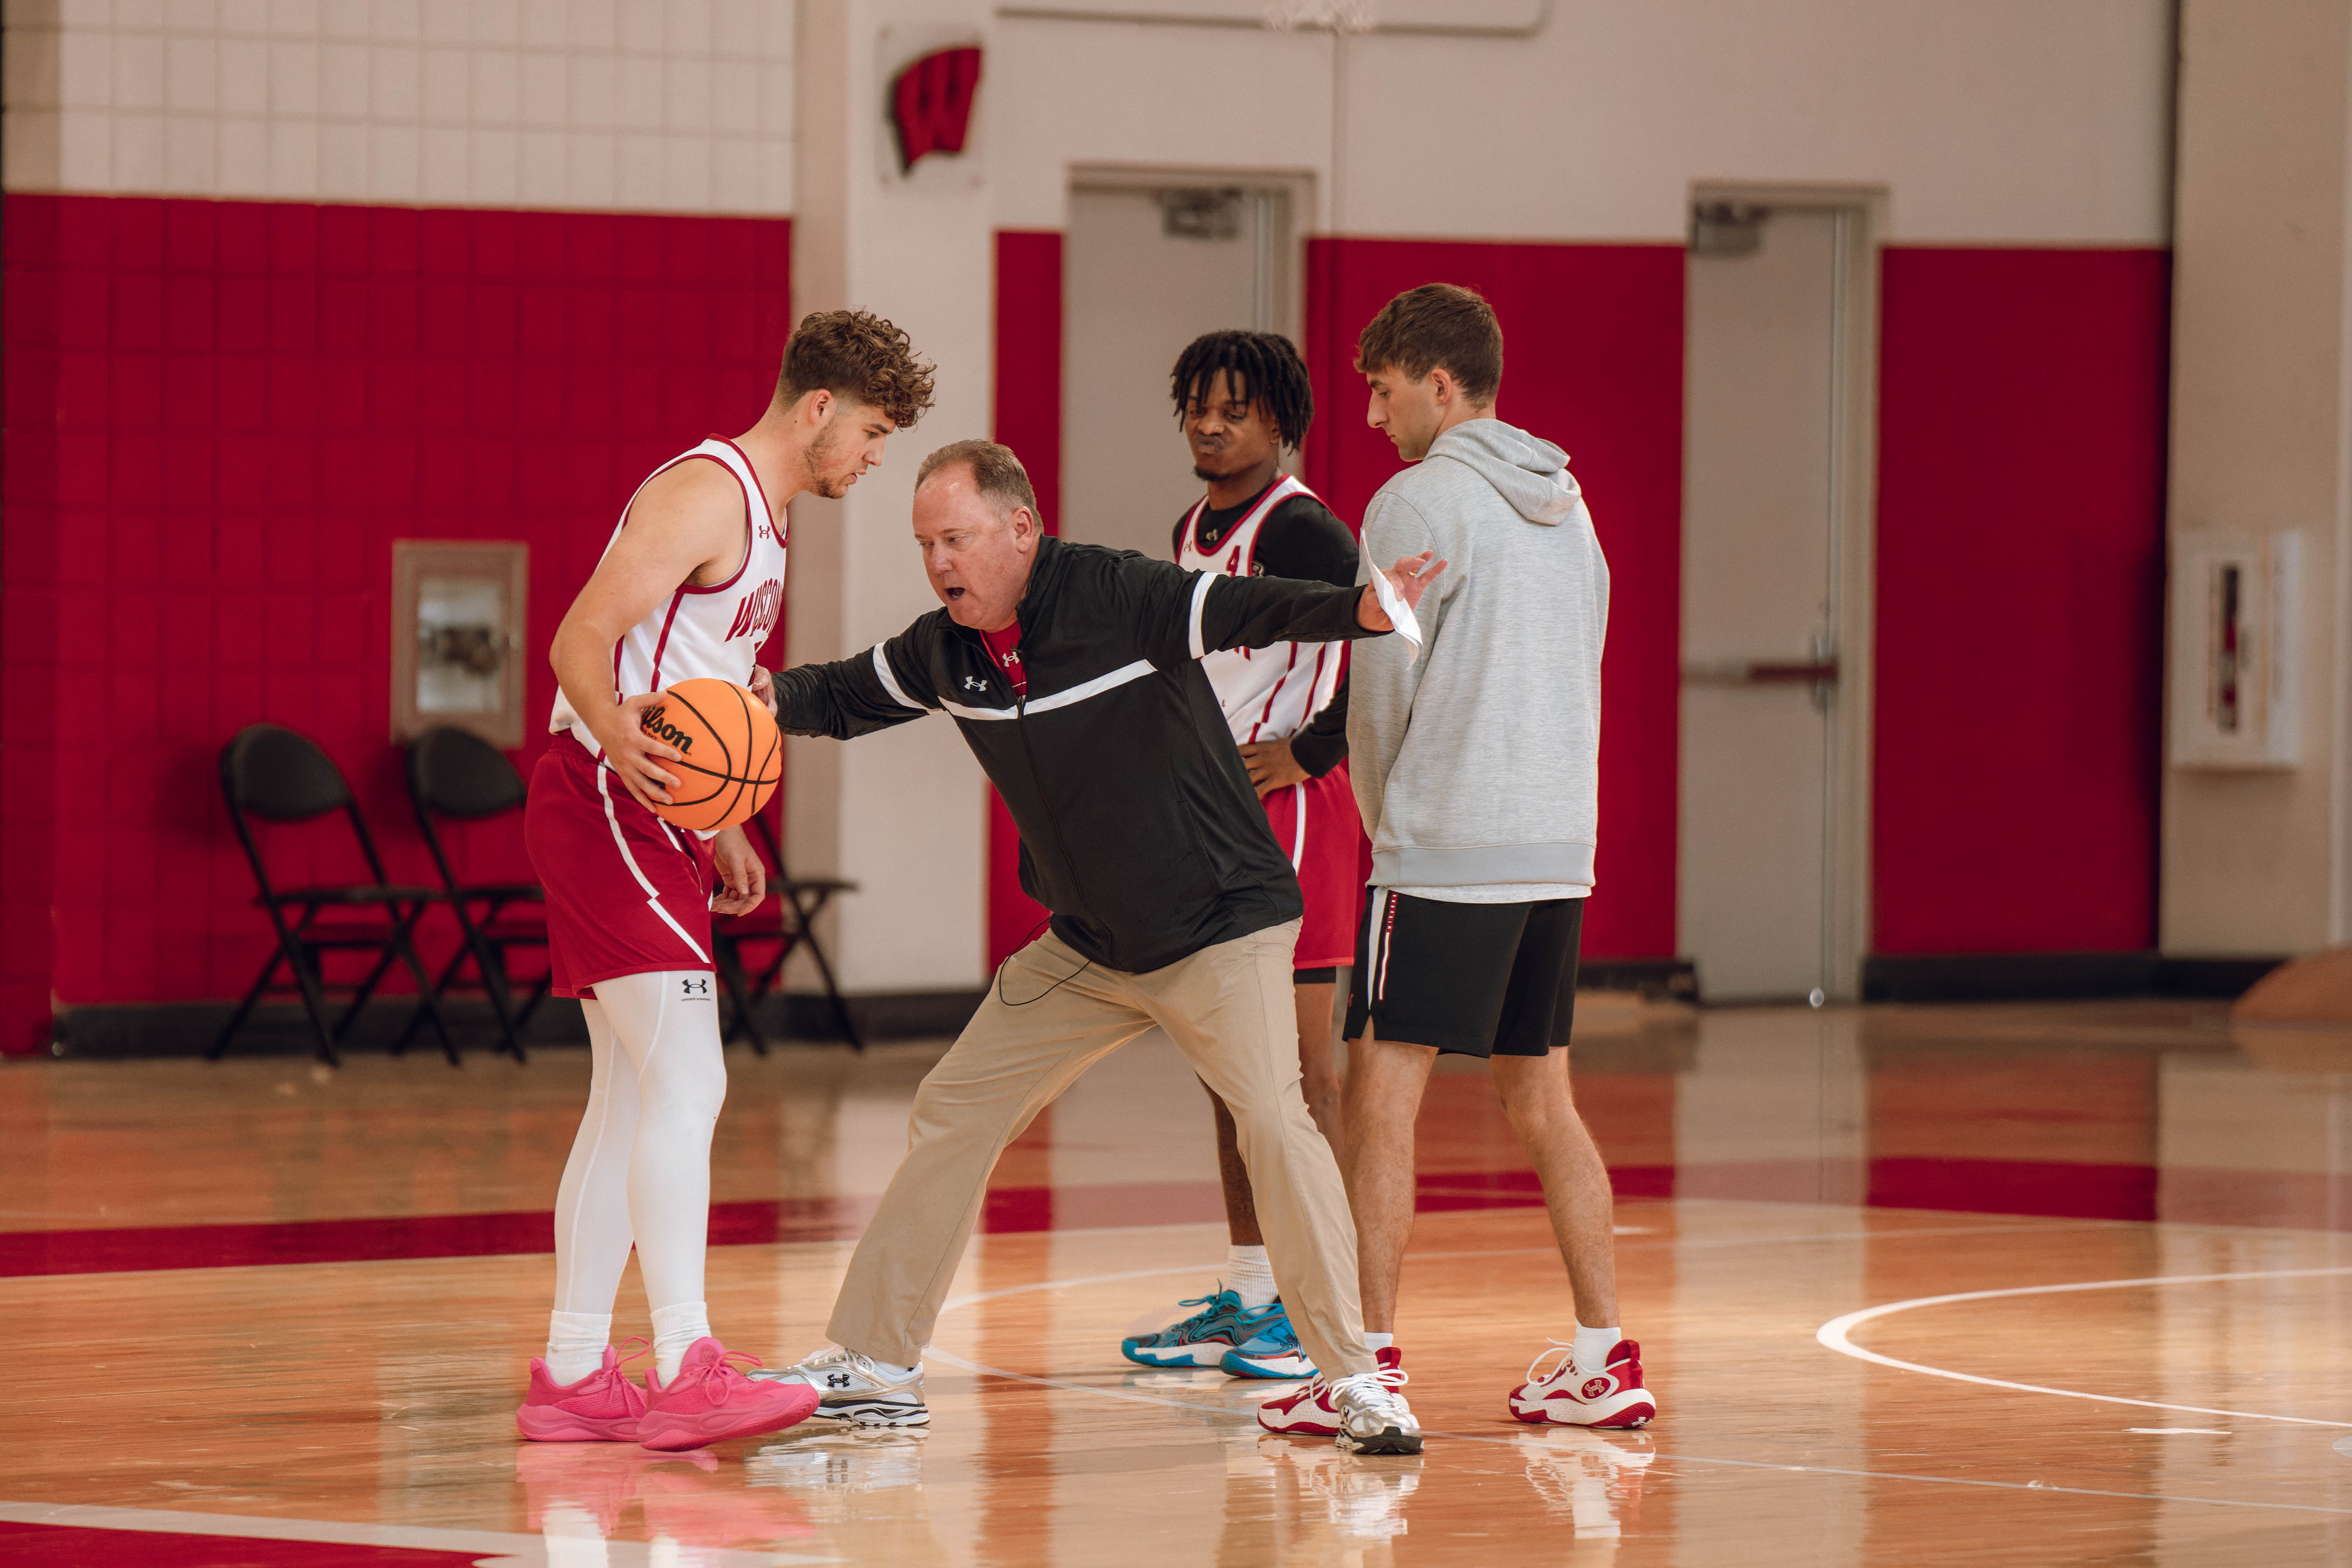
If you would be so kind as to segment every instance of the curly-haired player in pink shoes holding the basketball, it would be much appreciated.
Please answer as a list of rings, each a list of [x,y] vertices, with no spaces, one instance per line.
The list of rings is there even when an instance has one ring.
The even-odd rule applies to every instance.
[[[555,994],[581,1001],[593,1074],[555,1197],[548,1349],[515,1413],[527,1439],[682,1450],[816,1406],[797,1385],[746,1380],[743,1356],[710,1335],[710,1131],[727,1098],[710,917],[757,907],[767,877],[741,825],[706,837],[656,813],[687,795],[687,755],[644,724],[687,679],[750,684],[771,703],[755,658],[783,607],[786,503],[849,494],[929,402],[931,367],[903,331],[863,310],[802,317],[760,423],[637,487],[555,630],[555,741],[532,773],[524,837],[548,893]],[[654,1312],[644,1387],[612,1347],[630,1246]]]

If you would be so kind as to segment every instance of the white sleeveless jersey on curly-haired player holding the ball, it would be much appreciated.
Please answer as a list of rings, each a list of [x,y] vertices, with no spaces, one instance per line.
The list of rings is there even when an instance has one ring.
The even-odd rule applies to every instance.
[[[713,435],[694,451],[682,451],[644,475],[644,484],[696,458],[724,463],[727,473],[743,487],[743,564],[736,567],[731,578],[710,588],[680,583],[677,592],[663,599],[652,616],[628,628],[621,642],[612,646],[612,693],[616,703],[703,675],[729,679],[739,686],[746,684],[757,663],[760,644],[767,642],[767,635],[776,628],[776,616],[783,611],[786,541],[776,531],[774,517],[769,517],[760,475],[750,470],[750,458],[743,456],[741,447]],[[621,508],[621,522],[614,524],[612,538],[604,541],[604,555],[612,555],[621,529],[628,527],[628,508],[637,505],[644,484]],[[557,689],[548,733],[555,736],[567,729],[593,755],[602,755],[604,748],[597,745],[597,738],[588,733],[588,726],[581,724],[581,717],[564,701],[562,689]]]

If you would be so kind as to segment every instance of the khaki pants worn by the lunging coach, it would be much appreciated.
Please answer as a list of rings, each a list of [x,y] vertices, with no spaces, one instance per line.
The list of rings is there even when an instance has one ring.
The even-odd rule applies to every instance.
[[[1298,922],[1289,922],[1148,976],[1087,964],[1051,933],[1007,959],[988,1001],[915,1091],[913,1145],[849,1260],[833,1340],[877,1361],[920,1361],[997,1152],[1077,1074],[1160,1025],[1232,1110],[1298,1345],[1329,1378],[1374,1371],[1348,1192],[1298,1093],[1296,940]],[[1169,1114],[1200,1107],[1171,1105]]]

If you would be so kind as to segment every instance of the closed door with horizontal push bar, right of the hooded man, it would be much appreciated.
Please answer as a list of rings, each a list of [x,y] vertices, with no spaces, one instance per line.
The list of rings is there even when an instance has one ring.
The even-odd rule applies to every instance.
[[[1842,209],[1731,209],[1686,275],[1677,924],[1708,999],[1839,973]]]

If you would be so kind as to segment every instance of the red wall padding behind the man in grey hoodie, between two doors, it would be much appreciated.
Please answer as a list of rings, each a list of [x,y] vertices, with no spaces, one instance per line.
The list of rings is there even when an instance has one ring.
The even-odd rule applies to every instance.
[[[1388,437],[1364,423],[1355,339],[1390,296],[1423,282],[1468,284],[1494,303],[1505,343],[1496,414],[1569,451],[1609,552],[1602,842],[1585,952],[1672,954],[1682,247],[1310,240],[1305,477],[1350,524],[1397,470]]]

